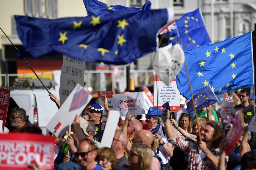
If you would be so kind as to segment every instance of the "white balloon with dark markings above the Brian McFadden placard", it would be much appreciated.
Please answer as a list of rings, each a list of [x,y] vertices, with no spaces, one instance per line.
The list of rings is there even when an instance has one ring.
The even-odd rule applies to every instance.
[[[170,46],[159,48],[154,55],[152,64],[156,75],[168,86],[180,72],[185,61],[184,51],[180,44]]]

